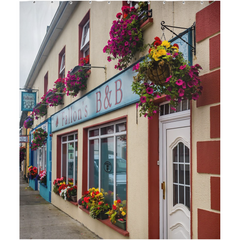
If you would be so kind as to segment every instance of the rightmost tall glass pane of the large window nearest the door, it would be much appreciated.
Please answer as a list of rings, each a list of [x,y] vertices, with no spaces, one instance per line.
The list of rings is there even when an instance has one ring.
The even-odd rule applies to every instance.
[[[126,135],[118,136],[116,141],[116,193],[117,199],[126,200]]]

